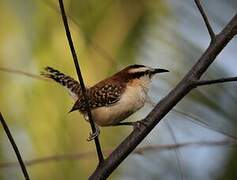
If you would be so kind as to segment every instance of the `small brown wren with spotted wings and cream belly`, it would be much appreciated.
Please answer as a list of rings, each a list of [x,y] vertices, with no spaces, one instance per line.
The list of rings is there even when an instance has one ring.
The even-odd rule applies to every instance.
[[[122,121],[145,105],[153,76],[165,72],[169,71],[134,64],[92,87],[86,87],[88,105],[97,129],[96,133],[90,134],[88,140],[98,136],[100,132],[98,126],[134,125],[135,122]],[[66,87],[75,100],[69,112],[79,110],[88,121],[86,102],[80,83],[52,67],[46,67],[41,74]]]

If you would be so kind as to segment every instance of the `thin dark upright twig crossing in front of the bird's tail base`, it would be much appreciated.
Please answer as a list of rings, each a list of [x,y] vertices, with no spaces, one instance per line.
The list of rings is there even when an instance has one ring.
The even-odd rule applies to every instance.
[[[70,29],[69,29],[69,26],[68,26],[68,21],[67,21],[66,12],[64,10],[63,0],[58,0],[58,2],[59,2],[60,9],[61,9],[63,24],[64,24],[66,36],[67,36],[67,39],[68,39],[68,43],[69,43],[69,46],[70,46],[70,50],[71,50],[71,53],[72,53],[74,65],[75,65],[77,75],[78,75],[78,79],[79,79],[79,82],[80,82],[80,85],[81,85],[82,95],[83,95],[83,97],[85,99],[85,102],[86,102],[86,112],[87,112],[89,122],[90,122],[90,125],[91,125],[92,133],[95,133],[96,132],[96,126],[95,126],[95,123],[92,119],[91,110],[90,110],[89,103],[88,103],[88,97],[87,97],[87,94],[86,94],[86,88],[85,88],[85,84],[84,84],[84,81],[83,81],[83,78],[82,78],[81,69],[80,69],[80,66],[79,66],[79,63],[78,63],[76,51],[75,51],[75,48],[74,48],[74,45],[73,45]],[[94,141],[95,141],[97,155],[98,155],[98,159],[99,159],[99,165],[100,165],[104,161],[104,156],[103,156],[103,153],[102,153],[102,150],[101,150],[99,138],[95,137]]]

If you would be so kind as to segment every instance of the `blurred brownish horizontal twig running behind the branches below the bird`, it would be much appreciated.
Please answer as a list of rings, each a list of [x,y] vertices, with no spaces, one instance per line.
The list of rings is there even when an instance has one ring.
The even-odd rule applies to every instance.
[[[222,141],[199,141],[199,142],[186,142],[186,143],[179,143],[179,144],[162,144],[162,145],[147,145],[143,147],[139,147],[133,151],[133,154],[143,155],[145,152],[148,151],[167,151],[173,150],[178,148],[188,148],[192,146],[200,146],[200,147],[211,147],[211,146],[237,146],[236,141],[230,140],[222,140]],[[109,154],[113,148],[108,148],[103,150],[106,154]],[[24,161],[26,166],[34,166],[40,165],[50,162],[58,162],[58,161],[78,161],[87,158],[94,158],[96,155],[95,151],[87,151],[87,152],[80,152],[80,153],[71,153],[71,154],[61,154],[61,155],[52,155],[42,158],[35,158],[31,160]],[[7,161],[7,162],[0,162],[0,169],[2,168],[11,168],[19,166],[18,162],[15,161]]]

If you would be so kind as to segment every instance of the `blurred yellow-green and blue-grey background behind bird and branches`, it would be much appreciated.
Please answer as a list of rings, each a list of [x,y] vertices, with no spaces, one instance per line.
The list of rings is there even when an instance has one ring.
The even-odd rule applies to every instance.
[[[236,0],[203,1],[215,32],[237,12]],[[121,68],[145,64],[170,70],[155,77],[149,95],[157,102],[197,61],[210,39],[192,0],[65,0],[70,27],[88,86]],[[0,1],[0,110],[23,159],[88,153],[88,123],[70,113],[73,100],[56,83],[23,75],[39,75],[52,66],[75,78],[56,0]],[[203,78],[237,75],[237,40],[232,40]],[[7,72],[17,70],[16,72]],[[20,72],[19,72],[20,71]],[[37,76],[38,77],[38,76]],[[236,83],[200,87],[171,111],[140,147],[184,142],[228,141],[237,136]],[[146,116],[147,104],[130,117]],[[129,127],[101,130],[103,149],[112,150],[131,132]],[[0,163],[16,161],[0,130]],[[95,154],[28,167],[32,179],[87,179],[95,169]],[[130,155],[110,179],[236,179],[236,147],[196,145],[159,148]],[[19,167],[0,167],[0,179],[23,179]]]

